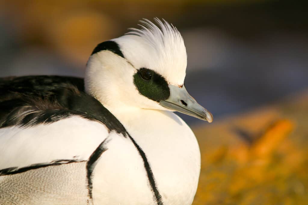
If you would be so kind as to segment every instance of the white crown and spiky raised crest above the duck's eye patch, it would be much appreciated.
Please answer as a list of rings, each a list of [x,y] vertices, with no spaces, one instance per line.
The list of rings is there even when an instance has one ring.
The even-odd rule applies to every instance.
[[[125,41],[124,56],[136,69],[153,69],[164,76],[170,84],[182,85],[186,75],[187,54],[180,32],[165,20],[154,18],[153,22],[143,19],[141,29],[131,28],[126,35],[118,38]],[[128,45],[130,44],[130,45]],[[134,46],[134,47],[133,47]]]

